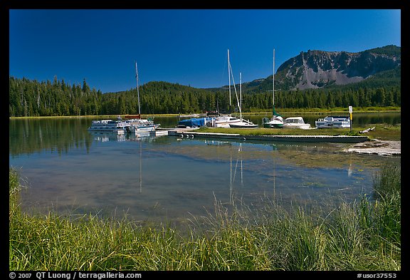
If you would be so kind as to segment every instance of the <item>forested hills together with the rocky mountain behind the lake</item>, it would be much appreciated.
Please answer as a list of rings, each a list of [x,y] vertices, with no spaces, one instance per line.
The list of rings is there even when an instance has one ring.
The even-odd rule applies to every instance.
[[[242,84],[243,112],[272,110],[272,80],[270,75]],[[401,107],[400,47],[384,46],[360,53],[301,52],[279,66],[275,74],[276,109],[349,105]],[[140,86],[140,106],[143,115],[238,110],[235,90],[230,102],[227,86],[200,89],[162,81]],[[90,89],[85,79],[82,85],[69,85],[56,77],[53,82],[9,78],[10,116],[124,115],[138,111],[137,88],[103,94]]]

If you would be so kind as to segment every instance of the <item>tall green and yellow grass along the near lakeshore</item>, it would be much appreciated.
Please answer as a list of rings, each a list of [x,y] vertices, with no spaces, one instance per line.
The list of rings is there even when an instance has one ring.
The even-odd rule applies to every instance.
[[[11,270],[400,270],[400,168],[375,177],[374,199],[317,214],[272,201],[256,214],[216,202],[188,233],[124,217],[21,212],[9,170]],[[392,184],[392,185],[391,185]],[[384,191],[380,191],[383,189]]]

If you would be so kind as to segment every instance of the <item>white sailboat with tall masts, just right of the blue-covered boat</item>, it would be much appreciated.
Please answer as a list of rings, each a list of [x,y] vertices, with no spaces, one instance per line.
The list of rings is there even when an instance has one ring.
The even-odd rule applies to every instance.
[[[229,105],[231,105],[231,76],[233,81],[233,88],[235,89],[236,102],[238,103],[239,118],[233,117],[232,115],[219,115],[218,117],[211,120],[211,127],[214,128],[257,128],[258,125],[252,123],[250,120],[245,120],[242,118],[242,74],[241,74],[241,98],[238,98],[238,93],[236,93],[235,81],[232,75],[231,63],[229,61],[229,49],[228,49],[228,77],[229,77]],[[241,100],[241,102],[239,101]]]

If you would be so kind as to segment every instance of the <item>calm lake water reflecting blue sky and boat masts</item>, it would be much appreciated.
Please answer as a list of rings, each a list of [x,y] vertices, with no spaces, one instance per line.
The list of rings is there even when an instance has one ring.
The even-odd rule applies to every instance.
[[[259,118],[249,116],[254,123]],[[317,118],[312,116],[313,126]],[[256,208],[266,199],[284,205],[353,201],[372,194],[380,167],[400,161],[340,152],[349,146],[343,143],[89,133],[91,120],[9,120],[9,166],[27,186],[21,195],[24,210],[183,222],[213,212],[215,202]],[[401,117],[364,114],[361,120],[357,114],[354,120],[395,124]],[[162,127],[177,121],[155,118]]]

